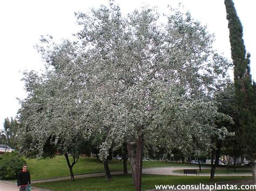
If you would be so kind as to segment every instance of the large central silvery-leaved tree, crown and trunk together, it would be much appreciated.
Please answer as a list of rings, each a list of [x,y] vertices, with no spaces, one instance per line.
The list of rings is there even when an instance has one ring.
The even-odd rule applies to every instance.
[[[78,37],[84,45],[87,90],[99,111],[90,112],[93,126],[101,132],[110,128],[100,157],[113,143],[126,142],[139,187],[144,140],[171,149],[221,135],[215,129],[220,115],[210,97],[223,85],[228,62],[211,49],[212,37],[189,13],[167,16],[163,25],[150,8],[127,18],[114,5],[77,16],[84,27]]]

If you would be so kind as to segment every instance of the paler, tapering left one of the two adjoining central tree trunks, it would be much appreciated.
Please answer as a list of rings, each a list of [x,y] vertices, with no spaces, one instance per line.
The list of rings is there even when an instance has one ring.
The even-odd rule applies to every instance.
[[[130,158],[130,166],[132,171],[132,181],[133,185],[136,185],[136,143],[127,143],[127,151]]]

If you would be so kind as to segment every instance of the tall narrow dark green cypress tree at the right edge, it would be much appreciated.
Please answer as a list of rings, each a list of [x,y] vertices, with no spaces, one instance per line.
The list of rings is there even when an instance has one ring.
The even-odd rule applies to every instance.
[[[250,54],[246,53],[242,39],[242,24],[232,0],[225,0],[228,29],[230,30],[231,57],[234,65],[234,88],[238,108],[238,125],[245,141],[245,152],[253,164],[252,171],[256,183],[256,122],[255,91],[250,74]]]

